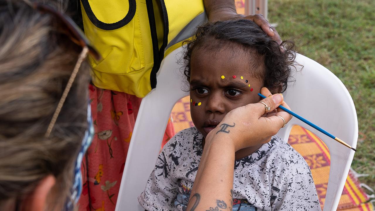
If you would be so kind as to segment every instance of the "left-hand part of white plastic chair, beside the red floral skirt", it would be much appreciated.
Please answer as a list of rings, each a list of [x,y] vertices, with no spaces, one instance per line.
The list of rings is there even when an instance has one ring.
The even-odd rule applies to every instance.
[[[178,59],[182,47],[166,56],[157,75],[157,87],[142,99],[127,152],[115,211],[144,211],[137,197],[155,167],[164,131],[174,104],[189,93],[181,90]]]

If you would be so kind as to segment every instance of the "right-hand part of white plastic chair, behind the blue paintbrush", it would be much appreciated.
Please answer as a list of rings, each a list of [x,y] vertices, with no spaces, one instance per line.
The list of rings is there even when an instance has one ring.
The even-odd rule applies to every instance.
[[[303,65],[288,84],[284,94],[291,110],[338,137],[353,148],[357,146],[358,122],[353,99],[344,84],[327,68],[297,54],[296,61]],[[316,134],[327,145],[331,158],[329,181],[323,211],[336,210],[341,197],[354,151],[315,130],[297,118],[282,128],[278,136],[288,140],[293,125],[300,125]]]

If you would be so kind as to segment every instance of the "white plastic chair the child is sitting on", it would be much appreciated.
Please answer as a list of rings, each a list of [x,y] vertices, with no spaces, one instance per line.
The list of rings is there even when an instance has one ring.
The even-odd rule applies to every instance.
[[[176,63],[181,50],[178,48],[165,57],[157,76],[157,88],[142,100],[126,158],[116,211],[144,210],[137,197],[144,190],[155,166],[171,110],[180,98],[188,95],[181,90],[181,66]],[[298,54],[297,62],[305,67],[297,72],[295,85],[288,86],[285,101],[294,112],[355,148],[358,136],[356,110],[344,84],[328,69],[305,56]],[[278,135],[288,140],[293,125],[301,125],[317,134],[330,150],[331,171],[323,210],[335,210],[354,151],[296,118],[282,128]]]

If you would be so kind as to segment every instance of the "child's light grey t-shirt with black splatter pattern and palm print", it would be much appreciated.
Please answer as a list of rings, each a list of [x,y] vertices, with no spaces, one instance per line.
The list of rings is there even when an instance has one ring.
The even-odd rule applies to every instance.
[[[202,134],[192,127],[166,143],[145,190],[138,197],[143,208],[186,210],[203,152],[202,139]],[[308,164],[290,145],[272,137],[248,157],[235,161],[235,210],[321,210]]]

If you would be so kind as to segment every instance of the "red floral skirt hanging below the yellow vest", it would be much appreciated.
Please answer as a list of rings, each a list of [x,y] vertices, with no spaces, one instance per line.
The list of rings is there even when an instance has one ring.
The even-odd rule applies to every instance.
[[[89,86],[95,135],[82,161],[79,211],[114,211],[141,98]],[[174,136],[168,122],[163,143]],[[150,140],[150,142],[153,140]]]

